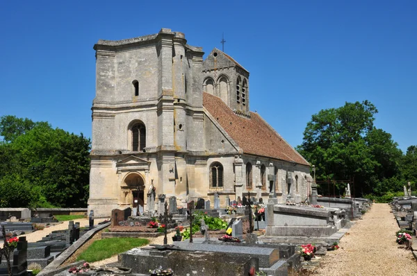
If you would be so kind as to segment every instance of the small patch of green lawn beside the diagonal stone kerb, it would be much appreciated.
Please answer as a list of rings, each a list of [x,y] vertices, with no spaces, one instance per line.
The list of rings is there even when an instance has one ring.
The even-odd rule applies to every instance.
[[[147,245],[148,243],[149,240],[138,238],[101,239],[92,243],[87,250],[82,252],[77,258],[77,261],[85,260],[90,263],[101,261],[102,259],[108,259],[113,255],[117,255],[132,248]]]

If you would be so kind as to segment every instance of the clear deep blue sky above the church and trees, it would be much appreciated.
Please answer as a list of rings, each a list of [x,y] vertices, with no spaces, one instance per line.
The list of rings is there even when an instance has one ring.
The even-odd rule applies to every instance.
[[[95,51],[171,28],[250,71],[250,109],[292,146],[311,115],[376,105],[375,126],[416,145],[417,1],[0,1],[0,116],[91,135]]]

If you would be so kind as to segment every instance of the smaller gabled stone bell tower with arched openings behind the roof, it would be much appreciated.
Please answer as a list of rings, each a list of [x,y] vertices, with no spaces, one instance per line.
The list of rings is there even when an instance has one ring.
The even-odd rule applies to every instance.
[[[218,96],[232,110],[249,112],[249,71],[215,48],[203,62],[203,91]]]

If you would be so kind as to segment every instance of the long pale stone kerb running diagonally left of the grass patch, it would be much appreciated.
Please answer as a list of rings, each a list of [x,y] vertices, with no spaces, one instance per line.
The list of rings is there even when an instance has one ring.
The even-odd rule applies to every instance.
[[[78,241],[76,241],[75,243],[72,243],[72,245],[69,248],[67,248],[67,250],[62,252],[56,259],[54,259],[54,261],[52,261],[51,264],[49,264],[47,267],[42,269],[42,271],[40,271],[38,276],[53,276],[59,273],[60,271],[65,270],[66,268],[64,269],[59,268],[59,266],[63,264],[64,261],[66,261],[69,257],[71,257],[71,255],[73,255],[74,252],[76,252],[76,250],[81,248],[81,246],[84,243],[86,243],[89,239],[91,239],[92,236],[94,236],[97,232],[103,230],[104,228],[108,227],[110,224],[111,223],[108,222],[103,225],[99,225],[98,227],[95,227],[94,229],[83,234],[83,236],[81,236],[81,238]],[[70,266],[74,266],[74,264],[71,264]]]

